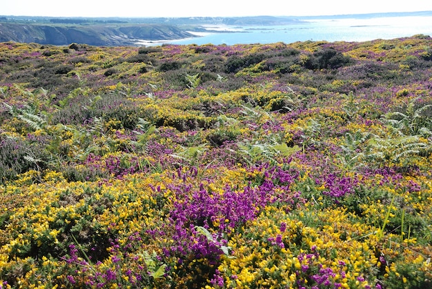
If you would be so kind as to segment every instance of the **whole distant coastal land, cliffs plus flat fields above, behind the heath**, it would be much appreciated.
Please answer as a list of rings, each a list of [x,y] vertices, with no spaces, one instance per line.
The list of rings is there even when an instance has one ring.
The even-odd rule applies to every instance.
[[[290,17],[184,17],[184,18],[54,18],[0,17],[0,42],[92,46],[135,46],[139,40],[168,41],[206,32],[202,25],[272,26],[298,23]]]

